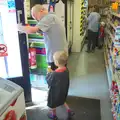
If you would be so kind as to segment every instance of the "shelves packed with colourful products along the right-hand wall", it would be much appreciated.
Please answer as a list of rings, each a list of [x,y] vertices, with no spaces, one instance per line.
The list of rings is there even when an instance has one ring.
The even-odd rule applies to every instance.
[[[104,57],[112,102],[113,120],[120,120],[120,17],[119,4],[109,9]]]

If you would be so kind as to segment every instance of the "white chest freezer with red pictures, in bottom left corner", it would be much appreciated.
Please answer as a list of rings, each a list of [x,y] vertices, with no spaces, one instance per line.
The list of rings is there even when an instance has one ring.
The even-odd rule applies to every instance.
[[[0,78],[0,120],[27,120],[23,89]]]

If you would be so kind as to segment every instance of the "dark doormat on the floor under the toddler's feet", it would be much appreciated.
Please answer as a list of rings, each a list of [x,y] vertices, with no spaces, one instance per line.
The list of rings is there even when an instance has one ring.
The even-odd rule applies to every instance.
[[[67,99],[67,103],[75,112],[72,120],[101,120],[100,100],[87,99],[80,97],[71,97]],[[38,105],[27,110],[28,120],[49,120],[47,118],[48,108]],[[57,108],[58,120],[67,120],[67,112],[64,106]]]

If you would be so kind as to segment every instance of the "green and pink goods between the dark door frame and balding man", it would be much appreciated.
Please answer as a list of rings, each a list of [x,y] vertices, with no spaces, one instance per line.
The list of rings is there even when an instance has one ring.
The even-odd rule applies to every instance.
[[[28,19],[28,25],[35,26],[36,24],[37,24],[36,20]],[[28,41],[30,43],[29,46],[30,69],[32,69],[32,71],[35,70],[36,71],[35,73],[38,72],[39,74],[46,74],[47,71],[46,51],[42,31],[39,32],[38,34],[36,33],[29,34]],[[33,53],[33,55],[31,53]]]

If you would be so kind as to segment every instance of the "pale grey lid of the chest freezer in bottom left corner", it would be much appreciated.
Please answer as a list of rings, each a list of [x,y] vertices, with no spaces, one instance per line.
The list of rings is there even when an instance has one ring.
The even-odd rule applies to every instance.
[[[0,78],[0,115],[23,89],[17,84]]]

